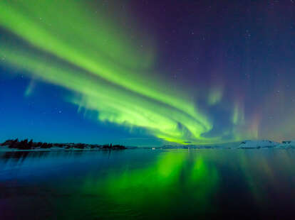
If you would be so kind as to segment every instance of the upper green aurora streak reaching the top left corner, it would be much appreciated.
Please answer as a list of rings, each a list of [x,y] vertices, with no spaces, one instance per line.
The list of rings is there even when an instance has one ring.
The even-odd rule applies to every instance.
[[[185,103],[182,99],[173,99],[165,95],[164,92],[159,93],[157,90],[150,89],[146,84],[155,84],[155,82],[146,81],[143,79],[143,75],[130,74],[130,70],[126,71],[116,63],[118,60],[124,59],[124,62],[132,62],[133,67],[137,67],[136,64],[138,63],[149,63],[149,59],[147,60],[146,56],[137,58],[138,53],[135,50],[130,50],[132,45],[121,40],[123,35],[116,35],[115,31],[109,28],[110,24],[100,22],[99,29],[95,28],[97,26],[93,23],[95,16],[92,16],[92,18],[89,15],[87,16],[87,11],[81,14],[79,9],[83,9],[85,6],[78,5],[78,1],[54,1],[54,4],[52,1],[46,1],[46,3],[36,4],[36,1],[29,0],[9,1],[9,4],[7,4],[6,1],[1,1],[1,24],[36,47],[68,60],[74,65],[83,67],[95,75],[148,97],[160,99],[165,103],[168,102],[172,106],[178,108],[184,106],[183,109],[187,109],[186,111],[195,115],[195,110],[190,104]],[[78,19],[74,19],[74,16],[79,14],[81,15],[78,16]],[[40,18],[49,24],[46,26],[39,21]],[[103,16],[99,18],[102,21],[108,21]],[[76,23],[76,21],[79,22]],[[50,23],[54,25],[57,23],[58,26],[51,25],[48,28]],[[73,23],[75,28],[69,28],[68,26],[73,26]],[[58,38],[59,33],[61,33],[61,38]],[[116,38],[110,33],[114,33]],[[87,45],[88,40],[91,41],[91,44],[88,43]],[[105,42],[105,40],[110,43],[97,45],[98,42]],[[110,53],[116,55],[112,57],[116,59],[115,62],[108,59],[107,56]],[[130,54],[135,55],[130,57]],[[129,77],[132,77],[132,79]]]

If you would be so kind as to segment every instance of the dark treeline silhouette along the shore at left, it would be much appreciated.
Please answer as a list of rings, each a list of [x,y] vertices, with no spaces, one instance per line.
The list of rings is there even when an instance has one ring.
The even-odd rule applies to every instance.
[[[86,143],[46,143],[46,142],[33,142],[25,139],[23,141],[19,141],[19,138],[15,140],[7,140],[4,143],[1,143],[1,146],[8,145],[9,148],[16,148],[19,150],[31,150],[36,148],[52,148],[53,146],[58,148],[78,148],[78,149],[85,149],[85,148],[100,148],[100,149],[108,149],[108,150],[124,150],[126,149],[123,145],[112,145],[105,144],[105,145],[97,145],[97,144],[86,144]]]

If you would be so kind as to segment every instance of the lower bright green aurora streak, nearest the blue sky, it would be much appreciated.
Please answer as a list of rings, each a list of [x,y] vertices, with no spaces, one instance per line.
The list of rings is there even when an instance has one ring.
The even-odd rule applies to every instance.
[[[59,66],[52,60],[48,62],[45,57],[30,57],[31,53],[25,52],[18,55],[19,51],[5,50],[5,46],[2,48],[0,54],[4,53],[6,61],[11,65],[17,65],[41,79],[78,92],[79,95],[72,98],[73,103],[99,111],[98,119],[101,121],[111,121],[125,126],[144,126],[155,136],[173,138],[179,142],[182,142],[184,133],[177,128],[176,119],[182,119],[183,125],[187,127],[195,126],[194,128],[202,129],[192,117],[172,106],[165,106],[120,87],[111,86],[102,79],[93,80],[77,70]],[[140,105],[136,106],[135,103]],[[170,112],[170,115],[167,116],[167,112]]]

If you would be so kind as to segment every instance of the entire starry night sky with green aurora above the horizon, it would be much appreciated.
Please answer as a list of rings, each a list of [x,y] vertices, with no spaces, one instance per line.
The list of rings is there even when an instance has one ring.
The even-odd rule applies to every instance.
[[[0,1],[0,141],[294,139],[295,1]]]

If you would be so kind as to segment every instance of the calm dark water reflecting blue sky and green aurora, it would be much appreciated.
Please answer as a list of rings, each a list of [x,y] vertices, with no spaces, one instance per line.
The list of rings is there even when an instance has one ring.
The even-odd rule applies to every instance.
[[[295,215],[294,150],[0,153],[0,219]]]

